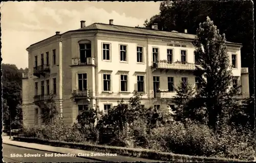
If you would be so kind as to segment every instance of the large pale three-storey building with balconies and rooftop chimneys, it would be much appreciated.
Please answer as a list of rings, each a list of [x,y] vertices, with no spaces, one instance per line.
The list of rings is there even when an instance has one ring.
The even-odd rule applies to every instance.
[[[76,122],[79,111],[99,106],[107,112],[117,101],[142,93],[146,107],[167,108],[182,81],[197,85],[195,35],[81,21],[80,29],[30,45],[29,72],[23,76],[24,125],[40,125],[41,101],[54,93],[60,116]],[[248,68],[241,68],[241,44],[227,42],[234,84],[249,95]]]

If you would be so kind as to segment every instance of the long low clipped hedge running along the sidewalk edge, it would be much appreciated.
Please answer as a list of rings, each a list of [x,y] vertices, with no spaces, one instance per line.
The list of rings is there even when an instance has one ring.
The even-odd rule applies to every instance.
[[[81,150],[87,150],[87,151],[111,152],[111,153],[117,153],[117,154],[123,155],[123,156],[133,156],[133,157],[141,157],[141,158],[163,160],[163,161],[178,161],[178,162],[195,162],[195,161],[200,161],[200,162],[238,161],[238,162],[242,162],[243,161],[243,160],[239,160],[239,159],[190,156],[190,155],[174,154],[174,153],[167,153],[167,152],[156,152],[156,151],[149,150],[149,149],[112,147],[112,146],[102,146],[102,145],[92,145],[92,144],[82,144],[82,143],[48,141],[48,140],[41,140],[41,139],[37,139],[37,138],[13,137],[13,140],[27,142],[27,143],[44,144],[44,145],[50,145],[50,146],[55,146],[55,147],[81,149]]]

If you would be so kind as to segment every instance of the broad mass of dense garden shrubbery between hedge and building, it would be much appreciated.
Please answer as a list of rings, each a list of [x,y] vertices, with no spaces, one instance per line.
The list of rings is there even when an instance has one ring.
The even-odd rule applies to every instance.
[[[56,118],[48,125],[25,128],[24,134],[26,137],[55,141],[146,148],[194,156],[253,159],[253,133],[245,128],[222,125],[214,132],[207,125],[190,119],[172,121],[167,111],[142,108],[140,95],[136,93],[130,99],[130,105],[133,107],[125,107],[121,101],[107,115],[99,112],[98,108],[84,110],[77,117],[78,123],[73,126],[67,126],[61,118]],[[119,116],[120,112],[122,116]]]

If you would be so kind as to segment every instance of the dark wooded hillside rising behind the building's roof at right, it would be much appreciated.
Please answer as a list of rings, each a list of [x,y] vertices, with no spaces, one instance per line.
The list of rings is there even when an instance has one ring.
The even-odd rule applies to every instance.
[[[254,94],[254,23],[251,1],[164,1],[160,13],[146,23],[158,23],[159,30],[196,34],[198,24],[209,16],[230,42],[242,43],[242,67],[249,67],[250,94]]]

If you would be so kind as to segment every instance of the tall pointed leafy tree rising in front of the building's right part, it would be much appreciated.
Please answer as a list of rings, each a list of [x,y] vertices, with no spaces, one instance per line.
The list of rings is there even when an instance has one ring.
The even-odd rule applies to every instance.
[[[217,122],[224,121],[229,112],[238,107],[233,97],[239,95],[238,87],[232,86],[232,71],[225,45],[225,35],[221,35],[214,22],[207,17],[199,24],[193,41],[195,58],[204,71],[200,80],[200,91],[196,95],[207,108],[208,126],[216,129]],[[196,71],[200,71],[197,68]],[[198,75],[198,74],[197,74]]]

